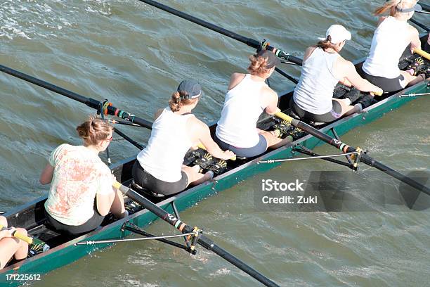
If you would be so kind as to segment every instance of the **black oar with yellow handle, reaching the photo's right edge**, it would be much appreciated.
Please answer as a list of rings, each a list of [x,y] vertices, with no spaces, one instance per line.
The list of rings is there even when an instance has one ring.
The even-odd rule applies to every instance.
[[[359,154],[357,156],[360,157],[360,162],[365,163],[366,165],[369,165],[370,167],[375,167],[378,170],[381,170],[382,172],[385,172],[386,174],[391,175],[391,177],[394,177],[400,181],[403,181],[405,184],[408,184],[412,186],[413,188],[422,191],[430,196],[430,189],[427,186],[424,186],[420,184],[419,182],[406,177],[404,174],[401,174],[400,172],[397,172],[396,170],[391,169],[391,167],[388,167],[384,165],[381,162],[378,162],[377,160],[374,160],[369,155],[363,153],[360,148],[353,148],[352,146],[348,146],[347,144],[344,144],[343,142],[339,141],[338,139],[334,139],[331,136],[328,136],[327,134],[324,134],[323,132],[320,132],[318,129],[315,129],[314,127],[311,127],[310,125],[307,125],[304,122],[301,122],[300,120],[296,120],[292,117],[289,117],[289,115],[285,115],[285,113],[276,113],[277,117],[280,117],[282,120],[286,120],[287,122],[291,122],[294,127],[298,127],[299,129],[304,130],[304,132],[307,132],[308,134],[311,134],[315,136],[316,138],[325,141],[327,144],[330,144],[331,146],[334,146],[335,148],[339,148],[344,153],[352,153],[352,152],[358,152]]]

